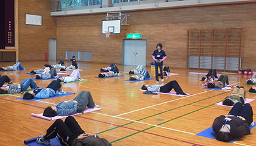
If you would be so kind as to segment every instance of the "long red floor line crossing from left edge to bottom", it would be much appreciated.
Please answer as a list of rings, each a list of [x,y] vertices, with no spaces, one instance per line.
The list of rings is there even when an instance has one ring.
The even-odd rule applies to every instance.
[[[0,98],[0,99],[2,99],[2,98]],[[15,101],[9,100],[9,99],[2,99],[2,100],[7,100],[7,101],[10,101],[10,102],[15,102]],[[33,107],[36,107],[36,108],[44,109],[44,108],[42,108],[42,107],[40,107],[40,106],[29,105],[29,104],[27,104],[27,103],[22,103],[22,102],[15,102],[15,103],[20,103],[20,104],[22,104],[22,105],[28,105],[28,106],[33,106]],[[116,126],[116,127],[122,127],[122,128],[126,128],[126,129],[129,129],[129,130],[138,131],[138,132],[141,132],[141,133],[151,134],[151,135],[154,135],[154,136],[163,137],[163,138],[171,139],[171,140],[174,140],[174,141],[185,142],[185,143],[187,143],[187,144],[202,146],[202,145],[199,145],[199,144],[194,144],[194,143],[192,143],[192,142],[187,142],[187,141],[181,141],[181,140],[179,140],[179,139],[174,139],[174,138],[172,138],[172,137],[167,137],[167,136],[162,136],[162,135],[159,135],[159,134],[149,133],[149,132],[146,132],[146,131],[136,130],[136,129],[129,128],[129,127],[123,127],[123,126],[121,126],[121,125],[116,125],[116,124],[104,122],[104,121],[101,121],[101,120],[90,119],[90,118],[88,118],[88,117],[82,117],[82,116],[77,116],[77,115],[76,115],[76,117],[80,117],[80,118],[82,118],[82,119],[94,120],[94,121],[96,121],[96,122],[106,123],[106,124],[108,124],[108,125],[114,125],[114,126]]]

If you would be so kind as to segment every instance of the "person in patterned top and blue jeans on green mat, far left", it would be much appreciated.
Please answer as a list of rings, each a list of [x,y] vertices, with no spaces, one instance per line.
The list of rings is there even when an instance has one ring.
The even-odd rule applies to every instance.
[[[7,78],[7,80],[8,80],[8,78]],[[23,82],[21,82],[19,84],[11,83],[5,87],[1,87],[0,94],[20,93],[22,91],[26,91],[27,88],[29,88],[29,86],[32,89],[36,89],[38,87],[37,84],[34,82],[34,80],[32,80],[32,78],[26,78],[25,80],[23,80]]]

